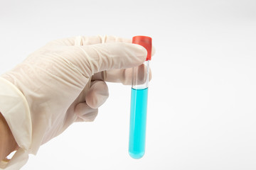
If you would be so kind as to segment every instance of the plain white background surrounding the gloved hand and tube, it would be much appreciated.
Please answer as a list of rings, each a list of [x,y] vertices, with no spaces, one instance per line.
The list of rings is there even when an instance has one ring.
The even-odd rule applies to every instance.
[[[149,35],[146,154],[129,157],[130,86],[109,84],[94,123],[76,123],[23,170],[256,169],[255,1],[1,1],[0,74],[46,42]]]

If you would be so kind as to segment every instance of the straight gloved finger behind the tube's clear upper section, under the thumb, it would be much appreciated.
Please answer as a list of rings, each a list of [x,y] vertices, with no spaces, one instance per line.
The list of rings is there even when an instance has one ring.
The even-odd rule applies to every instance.
[[[142,69],[143,65],[140,65],[139,72],[138,72],[138,84],[142,84],[142,82],[146,79],[146,69]],[[152,78],[152,72],[149,68],[149,81]],[[128,69],[112,69],[107,70],[105,72],[99,72],[92,76],[92,80],[102,80],[114,83],[122,83],[124,85],[131,85],[132,84],[132,68]]]

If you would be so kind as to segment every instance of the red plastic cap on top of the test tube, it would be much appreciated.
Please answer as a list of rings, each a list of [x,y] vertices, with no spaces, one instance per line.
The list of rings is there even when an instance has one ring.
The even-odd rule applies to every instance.
[[[146,36],[135,36],[132,38],[132,43],[142,45],[146,48],[146,51],[148,52],[146,61],[151,60],[152,38]]]

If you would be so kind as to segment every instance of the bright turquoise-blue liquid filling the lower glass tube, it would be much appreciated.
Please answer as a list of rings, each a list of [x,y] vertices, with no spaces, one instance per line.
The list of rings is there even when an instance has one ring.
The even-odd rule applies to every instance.
[[[140,159],[145,153],[148,89],[132,89],[129,128],[129,155]]]

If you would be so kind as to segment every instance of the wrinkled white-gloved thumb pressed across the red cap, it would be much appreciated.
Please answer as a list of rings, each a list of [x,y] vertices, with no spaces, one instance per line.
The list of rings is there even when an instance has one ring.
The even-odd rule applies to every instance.
[[[125,42],[73,46],[82,51],[72,60],[83,72],[93,75],[109,69],[137,67],[146,60],[146,49]]]

